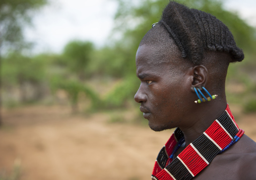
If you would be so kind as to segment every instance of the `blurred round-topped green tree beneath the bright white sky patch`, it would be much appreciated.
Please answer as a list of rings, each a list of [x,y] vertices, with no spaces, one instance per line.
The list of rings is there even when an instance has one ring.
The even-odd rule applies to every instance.
[[[72,112],[78,111],[80,94],[91,100],[92,108],[101,104],[98,94],[86,85],[94,52],[91,42],[75,40],[65,46],[61,56],[52,59],[51,68],[55,68],[50,78],[51,89],[53,92],[62,89],[67,93]]]

